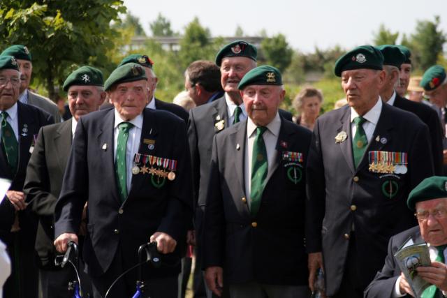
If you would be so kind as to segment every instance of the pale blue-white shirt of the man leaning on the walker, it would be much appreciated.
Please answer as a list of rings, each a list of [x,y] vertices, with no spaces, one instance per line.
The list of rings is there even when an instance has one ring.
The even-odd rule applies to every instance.
[[[133,118],[131,121],[127,121],[133,124],[133,128],[129,130],[129,138],[126,144],[126,185],[127,193],[131,190],[132,181],[132,167],[133,167],[133,157],[138,153],[138,148],[140,147],[141,130],[142,130],[142,114]],[[118,125],[124,121],[117,110],[115,110],[115,126],[113,129],[113,160],[117,158],[117,143],[118,143]]]

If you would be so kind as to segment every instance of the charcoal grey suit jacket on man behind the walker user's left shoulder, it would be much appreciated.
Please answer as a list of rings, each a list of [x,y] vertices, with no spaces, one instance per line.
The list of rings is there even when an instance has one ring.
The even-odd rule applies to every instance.
[[[69,119],[41,128],[27,167],[24,193],[39,216],[36,252],[41,267],[54,266],[53,215],[70,156],[72,121]]]

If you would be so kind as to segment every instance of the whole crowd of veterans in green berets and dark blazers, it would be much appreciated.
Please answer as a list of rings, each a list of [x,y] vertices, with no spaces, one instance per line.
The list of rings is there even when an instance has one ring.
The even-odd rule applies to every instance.
[[[193,297],[414,297],[395,258],[410,240],[432,260],[421,297],[444,297],[446,70],[411,77],[407,47],[356,47],[334,66],[340,106],[320,115],[305,87],[293,116],[257,54],[235,40],[194,61],[174,103],[146,54],[106,80],[82,66],[64,109],[29,90],[26,46],[3,50],[3,297],[184,297],[191,256]],[[54,261],[73,243],[74,285]]]

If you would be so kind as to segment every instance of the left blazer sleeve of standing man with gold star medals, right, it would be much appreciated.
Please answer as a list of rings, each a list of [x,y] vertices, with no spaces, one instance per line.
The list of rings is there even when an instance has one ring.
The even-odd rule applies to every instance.
[[[308,253],[315,253],[321,251],[321,227],[325,215],[325,177],[318,119],[307,158],[306,192],[306,249]]]

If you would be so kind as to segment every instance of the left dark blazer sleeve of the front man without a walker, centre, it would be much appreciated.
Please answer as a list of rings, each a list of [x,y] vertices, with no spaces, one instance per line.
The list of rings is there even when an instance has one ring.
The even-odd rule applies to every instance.
[[[210,180],[207,188],[203,229],[203,269],[223,267],[225,255],[225,218],[219,173],[219,146],[217,136],[212,144]],[[200,245],[200,244],[199,244]]]

